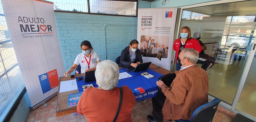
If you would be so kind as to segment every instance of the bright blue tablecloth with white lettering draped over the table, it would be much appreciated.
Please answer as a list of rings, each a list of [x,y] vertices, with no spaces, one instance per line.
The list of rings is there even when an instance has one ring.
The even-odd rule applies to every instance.
[[[126,69],[127,68],[119,69],[119,72],[120,73],[125,72]],[[146,77],[141,75],[142,72],[148,72],[149,74],[154,75],[154,78],[147,79]],[[132,75],[132,77],[120,79],[118,81],[117,87],[122,87],[123,85],[127,85],[132,90],[136,98],[136,101],[152,98],[155,95],[157,95],[158,87],[157,87],[156,81],[158,80],[159,77],[163,76],[162,74],[156,71],[153,71],[151,69],[147,69],[139,72],[127,72],[127,73]],[[82,85],[93,84],[94,87],[98,87],[98,85],[96,84],[96,81],[85,83],[83,79],[81,81],[78,81],[77,78],[78,77],[76,77],[76,81],[77,81],[79,92],[83,91],[81,87]],[[139,87],[143,88],[145,92],[142,94],[136,92],[137,90],[135,89]]]

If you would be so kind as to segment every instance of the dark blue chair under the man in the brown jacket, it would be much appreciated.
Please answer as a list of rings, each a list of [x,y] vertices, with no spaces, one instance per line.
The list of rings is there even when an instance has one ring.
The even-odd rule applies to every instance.
[[[220,103],[219,98],[213,99],[213,101],[208,102],[199,106],[192,114],[191,120],[175,120],[175,122],[211,122],[213,121],[214,114]]]

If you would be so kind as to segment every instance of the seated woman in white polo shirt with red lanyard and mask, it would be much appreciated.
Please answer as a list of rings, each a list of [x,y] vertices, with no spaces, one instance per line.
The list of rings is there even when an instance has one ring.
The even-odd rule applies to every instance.
[[[76,56],[74,64],[64,74],[65,77],[67,77],[68,74],[70,75],[71,72],[73,72],[79,64],[81,66],[81,73],[85,73],[87,71],[96,70],[97,63],[101,61],[99,60],[99,56],[97,52],[92,51],[93,48],[89,41],[87,40],[83,41],[80,46],[81,46],[82,53]]]

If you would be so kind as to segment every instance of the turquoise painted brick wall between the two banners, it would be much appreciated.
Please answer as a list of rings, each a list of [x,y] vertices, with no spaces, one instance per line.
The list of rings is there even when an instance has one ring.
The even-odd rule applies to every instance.
[[[55,19],[66,71],[82,52],[84,40],[91,42],[101,60],[115,61],[129,42],[137,39],[137,17],[55,12]]]

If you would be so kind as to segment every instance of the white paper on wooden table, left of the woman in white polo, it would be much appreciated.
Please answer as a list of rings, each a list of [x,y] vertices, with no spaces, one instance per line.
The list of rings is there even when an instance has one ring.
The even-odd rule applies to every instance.
[[[76,89],[78,89],[77,85],[76,85],[76,79],[60,82],[60,93],[72,91],[72,90],[76,90]]]

